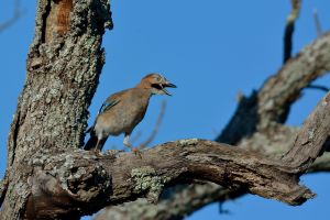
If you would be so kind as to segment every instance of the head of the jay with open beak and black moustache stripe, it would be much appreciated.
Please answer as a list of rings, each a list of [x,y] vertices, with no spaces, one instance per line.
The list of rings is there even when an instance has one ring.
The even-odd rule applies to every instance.
[[[164,76],[161,74],[148,74],[141,79],[139,85],[145,89],[151,89],[153,95],[167,95],[172,96],[166,88],[176,88],[174,84],[170,84]]]

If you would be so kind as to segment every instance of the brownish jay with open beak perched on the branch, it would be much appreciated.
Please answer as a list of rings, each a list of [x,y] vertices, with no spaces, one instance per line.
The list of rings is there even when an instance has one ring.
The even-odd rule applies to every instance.
[[[84,150],[101,152],[109,136],[124,133],[123,145],[134,151],[130,142],[132,131],[143,120],[153,95],[172,96],[167,91],[167,87],[177,88],[161,74],[152,73],[144,76],[135,87],[108,97],[102,103],[94,125],[86,131],[86,133],[90,133],[90,138]]]

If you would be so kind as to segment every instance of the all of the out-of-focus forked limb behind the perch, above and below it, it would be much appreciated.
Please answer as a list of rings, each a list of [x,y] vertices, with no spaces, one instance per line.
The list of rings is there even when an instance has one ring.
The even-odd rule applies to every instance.
[[[296,100],[290,97],[300,97],[301,90],[312,80],[329,73],[329,51],[330,33],[301,50],[276,75],[264,82],[260,92],[254,91],[240,101],[234,116],[217,141],[238,144],[240,147],[262,152],[271,157],[280,156],[292,147],[298,129],[286,128],[277,122],[286,120],[288,107]],[[309,58],[310,61],[306,62]],[[262,102],[258,103],[258,100]],[[267,108],[262,103],[267,103]],[[330,156],[326,154],[311,165],[310,172],[330,170],[328,163],[330,164]],[[100,218],[119,215],[125,219],[182,219],[210,202],[226,200],[227,193],[229,198],[231,196],[238,198],[245,194],[244,190],[229,193],[227,188],[210,184],[182,186],[173,190],[173,194],[168,193],[170,196],[163,198],[156,207],[139,200],[122,207],[109,207],[101,212]],[[140,211],[135,211],[136,209]]]

